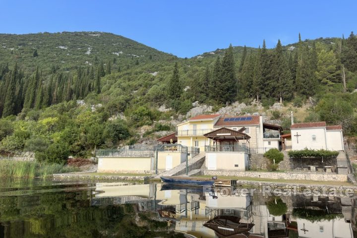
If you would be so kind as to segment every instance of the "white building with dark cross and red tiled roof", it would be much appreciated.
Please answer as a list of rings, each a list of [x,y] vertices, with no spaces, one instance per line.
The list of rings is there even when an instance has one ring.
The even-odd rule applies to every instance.
[[[344,150],[341,125],[326,125],[325,121],[295,123],[291,127],[292,149]]]

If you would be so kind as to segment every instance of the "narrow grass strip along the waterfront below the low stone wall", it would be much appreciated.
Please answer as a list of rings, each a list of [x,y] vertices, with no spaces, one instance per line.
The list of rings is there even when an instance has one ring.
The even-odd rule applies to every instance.
[[[210,175],[192,176],[195,178],[212,178]],[[350,182],[341,181],[315,181],[315,180],[297,180],[297,179],[264,179],[264,178],[252,178],[252,177],[236,177],[236,176],[219,176],[219,179],[235,179],[235,180],[248,180],[259,182],[282,182],[282,183],[294,183],[294,184],[316,184],[316,185],[338,185],[338,186],[351,186]]]

